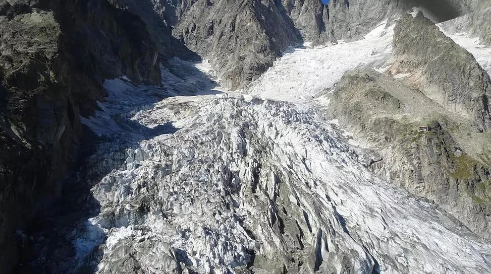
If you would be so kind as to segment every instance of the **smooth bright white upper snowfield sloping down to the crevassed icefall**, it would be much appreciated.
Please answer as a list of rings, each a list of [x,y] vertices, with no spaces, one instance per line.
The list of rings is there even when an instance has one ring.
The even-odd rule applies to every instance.
[[[371,64],[383,66],[392,53],[394,24],[381,22],[365,39],[323,48],[294,49],[275,61],[246,92],[289,102],[306,102],[331,89],[343,74]]]

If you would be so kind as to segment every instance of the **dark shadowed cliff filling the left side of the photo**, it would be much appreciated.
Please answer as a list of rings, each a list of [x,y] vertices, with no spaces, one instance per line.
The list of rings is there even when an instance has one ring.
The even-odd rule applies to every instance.
[[[107,1],[0,1],[0,272],[14,232],[53,202],[77,160],[80,114],[127,75],[158,85],[145,25]]]

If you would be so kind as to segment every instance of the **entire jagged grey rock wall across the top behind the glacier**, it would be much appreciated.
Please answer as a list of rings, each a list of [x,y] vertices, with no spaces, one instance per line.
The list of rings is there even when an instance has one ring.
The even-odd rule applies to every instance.
[[[287,47],[302,41],[316,45],[358,40],[385,19],[395,19],[415,6],[430,6],[419,0],[334,0],[329,6],[320,0],[119,2],[145,21],[161,54],[193,56],[189,51],[175,50],[178,41],[167,35],[172,31],[175,38],[208,59],[221,83],[233,90],[257,79]],[[478,35],[487,42],[485,27],[477,27],[489,16],[486,4],[478,0],[438,0],[433,6],[439,6],[434,11],[442,13],[442,7],[454,6],[451,17],[458,12],[468,14],[466,19],[452,23],[452,28]],[[432,17],[447,19],[441,13]]]

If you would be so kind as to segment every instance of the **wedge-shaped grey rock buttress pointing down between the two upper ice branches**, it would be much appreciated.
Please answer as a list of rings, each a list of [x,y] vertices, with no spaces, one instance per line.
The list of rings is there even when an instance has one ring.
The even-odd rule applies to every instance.
[[[208,58],[221,83],[242,88],[301,36],[280,3],[200,0],[188,3],[173,35]]]

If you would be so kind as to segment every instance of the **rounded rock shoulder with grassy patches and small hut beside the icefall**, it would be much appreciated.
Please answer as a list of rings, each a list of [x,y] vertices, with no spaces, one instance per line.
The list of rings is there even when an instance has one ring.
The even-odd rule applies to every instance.
[[[371,70],[346,73],[330,112],[356,140],[380,154],[370,167],[388,181],[434,200],[483,237],[491,231],[487,133],[406,83]],[[419,126],[427,125],[427,132]],[[484,146],[475,153],[475,144]],[[469,154],[471,155],[469,155]]]

